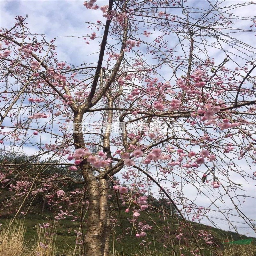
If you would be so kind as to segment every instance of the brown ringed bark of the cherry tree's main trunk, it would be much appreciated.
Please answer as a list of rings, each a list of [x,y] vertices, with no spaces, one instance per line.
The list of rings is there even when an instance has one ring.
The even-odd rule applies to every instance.
[[[74,118],[74,142],[76,148],[85,147],[83,133],[79,131],[83,113]],[[108,180],[95,178],[91,164],[84,160],[80,164],[88,191],[88,218],[85,249],[88,256],[108,256],[110,223],[108,216]]]

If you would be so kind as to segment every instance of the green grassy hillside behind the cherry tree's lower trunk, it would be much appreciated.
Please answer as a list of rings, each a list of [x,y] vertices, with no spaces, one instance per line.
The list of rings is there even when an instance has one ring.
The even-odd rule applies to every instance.
[[[27,215],[25,218],[24,215],[20,215],[19,219],[25,220],[25,226],[27,230],[24,240],[26,241],[26,246],[28,248],[32,248],[37,243],[37,227],[39,226],[39,224],[48,222],[53,223],[54,221],[54,217],[51,214],[47,215],[47,213],[44,216],[39,214]],[[148,214],[147,212],[141,212],[141,216],[139,217],[138,221],[143,222],[147,220],[147,224],[149,226],[152,226],[152,229],[146,230],[145,232],[147,235],[139,238],[135,237],[137,233],[136,228],[133,227],[133,225],[128,220],[132,219],[132,215],[130,213],[120,212],[114,215],[112,219],[113,228],[111,230],[111,255],[169,256],[173,255],[173,250],[179,252],[179,254],[177,254],[179,256],[181,255],[181,253],[183,253],[184,256],[192,255],[190,250],[191,248],[193,248],[195,241],[193,239],[193,236],[189,235],[189,232],[186,233],[186,230],[188,231],[188,229],[186,227],[183,227],[183,235],[181,240],[178,240],[176,237],[177,229],[180,227],[179,219],[167,218],[164,221],[160,218],[159,213],[151,212],[150,214]],[[8,223],[9,220],[10,219],[1,218],[1,223],[3,223],[4,226],[4,224]],[[79,231],[80,223],[79,221],[72,222],[70,220],[70,217],[67,217],[64,220],[55,222],[57,255],[69,255],[70,250],[72,250],[71,248],[75,248],[76,246],[75,230]],[[248,237],[239,235],[235,232],[226,232],[221,229],[212,228],[195,222],[191,222],[191,224],[192,228],[195,231],[195,234],[200,233],[199,230],[203,230],[207,231],[213,237],[213,239],[211,240],[213,242],[212,246],[207,246],[204,243],[205,241],[203,239],[200,242],[204,256],[217,255],[214,254],[215,250],[224,252],[226,250],[223,244],[223,241],[225,239],[228,239],[229,241],[248,239]],[[168,237],[166,236],[166,234],[168,234]],[[256,238],[252,239],[253,243],[256,244]],[[250,246],[250,248],[251,247],[253,251],[253,245]],[[235,251],[236,249],[234,249],[234,252]],[[255,254],[250,255],[256,255],[256,250],[254,251]],[[237,256],[242,256],[242,254],[238,254]]]

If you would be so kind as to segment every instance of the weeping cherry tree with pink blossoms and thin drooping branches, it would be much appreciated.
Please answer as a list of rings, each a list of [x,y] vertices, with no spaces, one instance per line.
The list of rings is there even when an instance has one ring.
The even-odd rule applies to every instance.
[[[240,205],[247,200],[241,184],[256,176],[255,44],[244,41],[255,42],[256,23],[240,10],[255,6],[192,2],[84,2],[99,20],[79,38],[84,47],[98,41],[99,50],[94,63],[85,58],[80,66],[58,60],[55,39],[31,34],[27,17],[2,28],[0,143],[5,153],[30,147],[34,159],[44,159],[39,164],[30,157],[22,163],[29,165],[25,170],[1,163],[2,188],[24,198],[15,217],[38,193],[48,204],[54,193],[54,204],[68,202],[70,211],[59,208],[56,220],[76,220],[75,205],[82,215],[87,207],[80,240],[91,256],[109,255],[113,193],[131,213],[137,238],[147,233],[138,218],[156,192],[181,218],[178,240],[188,228],[195,244],[202,237],[211,244],[207,232],[195,234],[187,221],[209,211],[227,220],[228,214],[238,216],[254,228]],[[67,168],[43,172],[47,165]],[[14,174],[20,180],[8,178]],[[70,182],[84,187],[65,192]],[[62,184],[57,191],[56,183]],[[204,206],[190,190],[204,198]],[[193,253],[201,255],[199,245]]]

